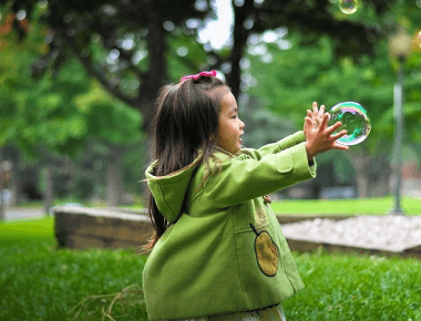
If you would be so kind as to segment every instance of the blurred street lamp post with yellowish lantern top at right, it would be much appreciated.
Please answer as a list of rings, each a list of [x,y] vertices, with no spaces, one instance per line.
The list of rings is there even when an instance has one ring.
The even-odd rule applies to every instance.
[[[403,64],[407,55],[411,52],[412,39],[405,32],[404,28],[400,28],[398,32],[390,39],[390,54],[398,58],[398,76],[393,87],[393,105],[394,105],[394,142],[393,151],[396,158],[394,175],[397,184],[393,193],[394,204],[390,215],[404,215],[401,207],[401,189],[402,189],[402,145],[403,145]]]

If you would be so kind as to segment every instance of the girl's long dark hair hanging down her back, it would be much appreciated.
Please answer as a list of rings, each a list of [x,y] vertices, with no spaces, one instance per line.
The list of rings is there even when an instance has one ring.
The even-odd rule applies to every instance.
[[[225,82],[215,76],[188,79],[164,86],[156,100],[156,113],[152,122],[153,159],[157,159],[155,176],[165,176],[192,164],[202,151],[202,162],[207,162],[215,148]],[[148,215],[155,232],[150,250],[168,227],[150,193]]]

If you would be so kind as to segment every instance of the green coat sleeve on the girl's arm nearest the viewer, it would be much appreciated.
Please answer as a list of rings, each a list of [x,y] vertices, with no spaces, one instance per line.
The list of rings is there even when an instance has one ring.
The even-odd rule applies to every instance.
[[[224,208],[316,177],[304,143],[279,153],[253,158],[240,155],[223,162],[220,172],[206,178],[202,197]]]

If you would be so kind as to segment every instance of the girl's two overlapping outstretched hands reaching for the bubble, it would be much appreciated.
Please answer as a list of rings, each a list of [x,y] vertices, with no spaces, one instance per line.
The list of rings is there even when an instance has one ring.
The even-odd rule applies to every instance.
[[[307,137],[306,149],[308,161],[312,159],[317,154],[330,149],[348,151],[349,146],[341,145],[336,139],[347,134],[347,131],[340,131],[338,134],[332,135],[342,124],[337,122],[335,125],[328,127],[329,113],[325,113],[325,106],[317,110],[317,103],[312,104],[314,112],[307,111],[307,117],[304,123],[304,134]]]

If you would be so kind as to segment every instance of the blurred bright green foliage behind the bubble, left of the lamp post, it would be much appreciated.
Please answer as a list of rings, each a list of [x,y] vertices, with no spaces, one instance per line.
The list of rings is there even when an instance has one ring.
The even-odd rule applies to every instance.
[[[274,55],[270,68],[258,56],[250,56],[250,73],[257,79],[257,85],[249,90],[251,94],[269,97],[267,107],[288,114],[298,128],[302,127],[306,110],[311,110],[312,102],[325,104],[328,111],[339,102],[356,101],[371,117],[370,141],[390,134],[381,123],[390,120],[380,120],[393,104],[394,74],[387,60],[366,56],[361,63],[350,58],[338,61],[326,37],[315,45],[300,44],[298,37],[291,37],[290,41],[292,46],[280,52],[267,44]]]

